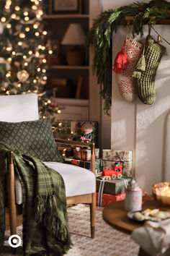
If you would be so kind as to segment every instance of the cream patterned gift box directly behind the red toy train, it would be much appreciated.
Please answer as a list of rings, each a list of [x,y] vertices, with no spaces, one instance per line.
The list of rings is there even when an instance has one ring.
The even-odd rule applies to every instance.
[[[102,150],[103,168],[112,169],[115,162],[122,165],[122,175],[132,177],[133,152],[128,150]]]

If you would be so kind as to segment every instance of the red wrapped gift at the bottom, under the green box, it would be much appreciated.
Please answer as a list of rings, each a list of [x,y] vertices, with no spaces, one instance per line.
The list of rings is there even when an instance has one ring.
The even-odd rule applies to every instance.
[[[125,200],[125,193],[122,193],[120,195],[102,194],[102,196],[99,196],[99,193],[97,193],[97,206],[106,207],[111,202],[117,202],[122,200]]]

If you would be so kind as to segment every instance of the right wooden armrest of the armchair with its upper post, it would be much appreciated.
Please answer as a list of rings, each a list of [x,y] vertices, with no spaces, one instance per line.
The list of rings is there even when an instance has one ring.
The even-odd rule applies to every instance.
[[[64,144],[64,145],[73,145],[73,146],[79,146],[79,147],[85,147],[85,148],[90,148],[91,149],[91,171],[96,175],[96,170],[95,170],[95,154],[94,154],[94,142],[92,143],[84,143],[84,142],[79,142],[79,141],[74,141],[74,140],[62,140],[55,138],[55,142]]]

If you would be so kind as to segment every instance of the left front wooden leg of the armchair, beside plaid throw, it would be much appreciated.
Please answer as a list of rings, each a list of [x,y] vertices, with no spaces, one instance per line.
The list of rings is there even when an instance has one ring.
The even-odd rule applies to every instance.
[[[14,164],[12,160],[12,151],[9,153],[9,223],[11,236],[17,233],[17,211],[15,204],[15,189],[14,189]],[[15,254],[16,249],[12,248],[12,254]]]

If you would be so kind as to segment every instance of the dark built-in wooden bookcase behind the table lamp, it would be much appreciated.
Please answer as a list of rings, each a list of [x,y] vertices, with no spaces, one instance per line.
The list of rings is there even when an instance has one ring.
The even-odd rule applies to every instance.
[[[55,42],[59,42],[61,46],[61,41],[66,33],[68,26],[71,23],[78,23],[82,26],[84,33],[88,33],[89,31],[89,23],[91,14],[89,14],[89,10],[91,7],[90,1],[92,0],[83,0],[82,1],[82,12],[77,13],[58,13],[53,10],[53,1],[48,0],[49,3],[47,8],[47,12],[42,16],[42,19],[45,22],[45,28],[50,32],[50,40]],[[93,0],[94,1],[94,0]],[[95,0],[96,1],[96,0]],[[53,42],[52,42],[53,43]],[[82,53],[85,55],[85,46],[80,46]],[[47,90],[49,89],[49,93],[52,92],[53,86],[50,85],[52,79],[66,79],[68,83],[66,86],[60,87],[58,86],[58,90],[53,95],[56,95],[57,98],[54,101],[62,108],[62,113],[56,115],[56,119],[65,119],[65,120],[88,120],[89,119],[89,62],[85,61],[81,64],[81,66],[75,65],[69,66],[66,62],[66,56],[68,51],[71,50],[71,46],[61,46],[61,61],[52,62],[53,59],[49,59],[48,66],[48,85]],[[82,85],[79,82],[80,77],[83,77]],[[78,88],[80,93],[77,98],[76,92]],[[81,86],[80,86],[81,85]],[[64,98],[61,98],[61,97]],[[59,97],[59,98],[58,98]],[[68,97],[68,98],[65,98]]]

